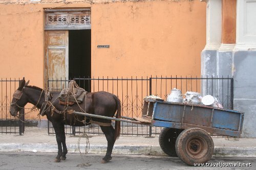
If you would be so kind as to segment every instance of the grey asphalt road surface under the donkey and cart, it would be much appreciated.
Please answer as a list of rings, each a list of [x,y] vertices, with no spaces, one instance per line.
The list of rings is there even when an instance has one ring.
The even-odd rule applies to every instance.
[[[104,155],[87,154],[82,160],[80,154],[68,154],[67,160],[58,163],[53,162],[53,153],[11,153],[0,152],[0,169],[256,169],[255,158],[212,158],[207,167],[194,167],[184,164],[179,158],[167,156],[147,155],[112,155],[111,162],[101,164]],[[210,165],[214,165],[211,167]],[[219,166],[217,165],[219,163]],[[233,165],[245,163],[246,167],[224,166],[227,163]],[[86,164],[90,164],[87,166]]]

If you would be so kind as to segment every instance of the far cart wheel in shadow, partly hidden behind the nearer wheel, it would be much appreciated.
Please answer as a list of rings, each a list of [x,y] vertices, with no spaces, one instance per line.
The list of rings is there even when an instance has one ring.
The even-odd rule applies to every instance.
[[[169,156],[177,157],[175,142],[183,129],[163,128],[159,135],[159,144],[163,152]]]

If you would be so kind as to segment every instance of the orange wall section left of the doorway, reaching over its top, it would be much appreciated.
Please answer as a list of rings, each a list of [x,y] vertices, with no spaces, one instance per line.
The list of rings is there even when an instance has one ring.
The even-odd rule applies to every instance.
[[[44,81],[44,8],[90,7],[90,4],[0,5],[0,78]]]

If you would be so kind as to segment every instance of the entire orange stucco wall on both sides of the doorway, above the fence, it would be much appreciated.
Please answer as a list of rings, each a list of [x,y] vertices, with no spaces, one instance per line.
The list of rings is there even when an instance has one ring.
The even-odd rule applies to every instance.
[[[92,76],[201,74],[206,8],[199,0],[49,2],[0,2],[0,78],[25,77],[31,85],[43,86],[44,9],[55,7],[91,8]],[[105,44],[110,48],[97,48]]]

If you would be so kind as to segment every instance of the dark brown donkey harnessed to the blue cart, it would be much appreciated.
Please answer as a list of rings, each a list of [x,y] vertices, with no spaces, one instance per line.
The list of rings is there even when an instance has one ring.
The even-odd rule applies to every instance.
[[[29,81],[28,81],[29,82]],[[13,99],[10,107],[10,113],[12,116],[16,116],[18,111],[23,108],[27,103],[33,104],[37,108],[44,107],[45,103],[45,91],[39,87],[28,86],[28,82],[22,80],[20,86],[13,94]],[[112,127],[111,120],[100,118],[85,118],[81,115],[70,114],[69,110],[75,110],[82,112],[86,110],[87,113],[96,115],[113,117],[117,111],[116,117],[121,117],[121,104],[116,95],[105,92],[88,92],[86,98],[82,103],[74,104],[68,108],[63,105],[59,105],[58,95],[60,92],[51,92],[52,99],[49,100],[52,106],[47,105],[47,109],[44,110],[44,114],[48,120],[52,122],[53,128],[56,133],[56,140],[58,144],[58,155],[55,162],[66,159],[68,153],[66,146],[66,136],[64,125],[72,126],[84,126],[91,124],[91,121],[99,123],[102,132],[104,133],[106,140],[108,141],[108,148],[106,155],[102,159],[101,163],[106,163],[112,159],[112,149],[116,139],[120,135],[120,122],[115,123],[115,129]],[[50,103],[48,103],[50,104]],[[62,146],[61,146],[62,144]],[[62,150],[63,147],[63,150]]]

